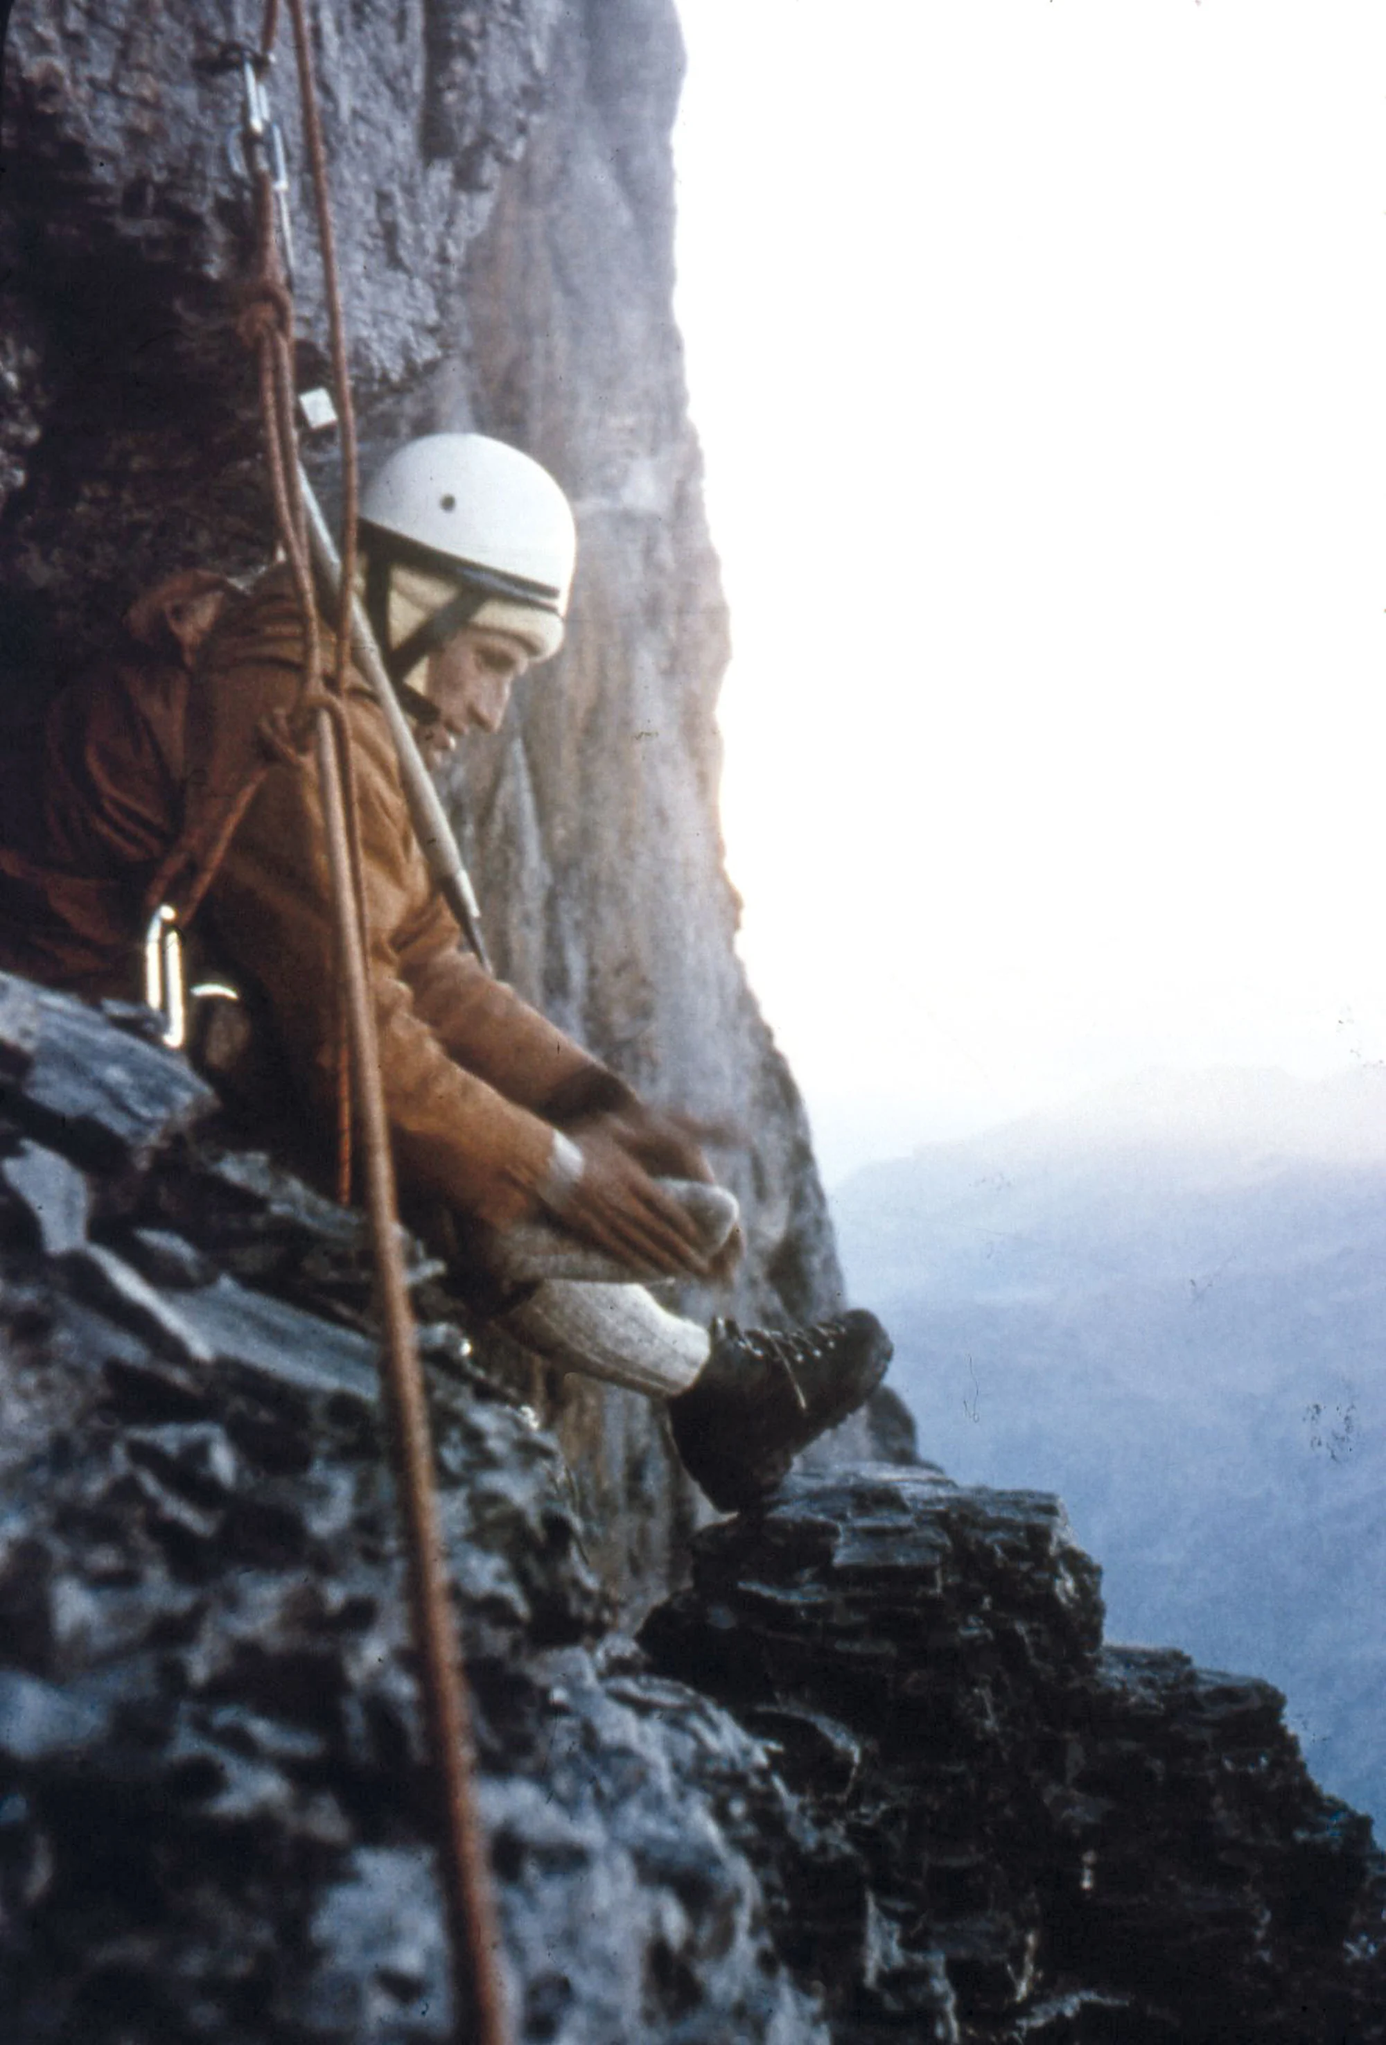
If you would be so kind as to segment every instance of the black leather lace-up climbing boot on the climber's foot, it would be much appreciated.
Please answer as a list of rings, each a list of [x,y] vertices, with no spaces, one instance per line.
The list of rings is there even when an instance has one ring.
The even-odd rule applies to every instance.
[[[724,1511],[767,1497],[810,1442],[869,1399],[891,1360],[873,1313],[844,1313],[797,1333],[713,1321],[711,1356],[668,1401],[689,1476]]]

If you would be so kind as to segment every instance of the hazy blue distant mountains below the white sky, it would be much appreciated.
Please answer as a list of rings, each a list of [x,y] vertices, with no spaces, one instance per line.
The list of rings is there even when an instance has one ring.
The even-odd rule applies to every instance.
[[[1386,1070],[1151,1072],[832,1207],[924,1454],[1059,1491],[1110,1638],[1269,1675],[1386,1816]]]

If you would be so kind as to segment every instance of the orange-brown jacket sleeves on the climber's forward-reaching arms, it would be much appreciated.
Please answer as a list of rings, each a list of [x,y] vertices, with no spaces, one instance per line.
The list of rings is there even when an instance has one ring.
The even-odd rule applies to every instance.
[[[235,687],[235,677],[223,685]],[[534,1108],[595,1061],[456,951],[456,924],[413,838],[384,718],[358,693],[348,710],[368,971],[401,1178],[507,1227],[534,1211],[552,1155],[552,1127]],[[337,957],[311,757],[268,773],[209,908],[229,961],[268,998],[294,1078],[331,1117]]]

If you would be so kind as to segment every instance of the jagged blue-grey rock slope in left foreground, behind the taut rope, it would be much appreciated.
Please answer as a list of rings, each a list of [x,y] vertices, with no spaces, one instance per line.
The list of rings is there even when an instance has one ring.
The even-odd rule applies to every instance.
[[[6,2045],[452,2039],[360,1217],[4,996]],[[552,1440],[456,1325],[423,1352],[517,2037],[826,2041],[740,1840],[793,1822],[760,1744],[607,1640]]]

